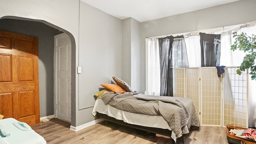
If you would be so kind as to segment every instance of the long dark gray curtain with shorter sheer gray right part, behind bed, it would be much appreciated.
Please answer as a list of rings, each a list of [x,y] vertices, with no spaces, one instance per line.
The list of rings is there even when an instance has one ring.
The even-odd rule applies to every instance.
[[[159,38],[160,96],[173,96],[172,68],[188,66],[186,44],[183,36]]]

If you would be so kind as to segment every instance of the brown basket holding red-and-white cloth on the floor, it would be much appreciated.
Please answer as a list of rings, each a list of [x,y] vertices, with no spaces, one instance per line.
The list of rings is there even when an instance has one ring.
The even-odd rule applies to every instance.
[[[227,140],[228,140],[228,143],[230,144],[242,144],[242,142],[245,142],[243,144],[256,144],[256,141],[255,140],[249,140],[249,139],[246,139],[246,138],[241,138],[241,137],[238,137],[238,136],[234,136],[232,134],[229,133],[230,129],[238,129],[238,130],[245,130],[245,129],[248,129],[248,128],[242,128],[240,126],[234,126],[232,124],[227,124],[226,125],[226,133],[227,133]]]

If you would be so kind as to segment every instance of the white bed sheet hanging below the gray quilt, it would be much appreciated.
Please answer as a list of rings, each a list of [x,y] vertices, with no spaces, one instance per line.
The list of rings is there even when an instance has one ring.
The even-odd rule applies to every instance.
[[[96,102],[92,110],[92,115],[96,116],[96,112],[99,112],[101,114],[106,114],[108,116],[116,118],[117,120],[123,120],[124,122],[129,124],[136,124],[140,126],[171,130],[170,126],[162,116],[135,114],[132,112],[119,110],[117,108],[110,106],[109,104],[105,105],[103,100],[100,98],[96,99]],[[172,132],[171,137],[176,142],[176,134],[174,132]]]

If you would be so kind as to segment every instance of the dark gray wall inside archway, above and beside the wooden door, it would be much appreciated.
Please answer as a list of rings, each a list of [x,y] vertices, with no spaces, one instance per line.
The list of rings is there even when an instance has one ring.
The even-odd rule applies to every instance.
[[[14,19],[1,19],[0,30],[38,37],[40,117],[53,115],[54,35],[62,32],[41,22]]]

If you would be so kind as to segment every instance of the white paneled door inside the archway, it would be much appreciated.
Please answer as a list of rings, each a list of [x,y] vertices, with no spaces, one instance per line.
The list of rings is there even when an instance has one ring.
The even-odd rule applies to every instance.
[[[71,41],[67,34],[54,36],[55,117],[71,122]]]

